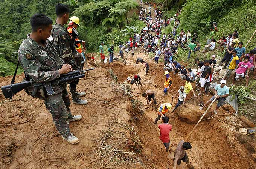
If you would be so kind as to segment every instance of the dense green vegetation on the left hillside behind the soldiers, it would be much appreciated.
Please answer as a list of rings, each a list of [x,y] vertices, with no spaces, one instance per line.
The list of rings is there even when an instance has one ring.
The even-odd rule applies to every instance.
[[[81,39],[87,42],[88,51],[96,51],[99,43],[123,43],[126,39],[120,30],[125,25],[138,26],[145,24],[137,21],[137,15],[130,18],[127,13],[136,9],[136,0],[2,0],[0,1],[0,53],[17,52],[21,41],[31,32],[29,19],[35,13],[44,13],[56,20],[55,5],[66,3],[72,15],[80,18],[78,32]],[[0,54],[1,76],[11,75],[11,65],[17,63],[17,53]],[[6,66],[11,66],[8,69]]]

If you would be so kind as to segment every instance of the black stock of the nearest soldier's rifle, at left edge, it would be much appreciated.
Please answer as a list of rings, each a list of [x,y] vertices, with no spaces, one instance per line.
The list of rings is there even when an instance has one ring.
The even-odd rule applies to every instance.
[[[9,98],[31,85],[32,85],[32,81],[30,80],[30,81],[24,81],[21,83],[9,84],[6,86],[2,86],[1,90],[2,90],[5,98]]]

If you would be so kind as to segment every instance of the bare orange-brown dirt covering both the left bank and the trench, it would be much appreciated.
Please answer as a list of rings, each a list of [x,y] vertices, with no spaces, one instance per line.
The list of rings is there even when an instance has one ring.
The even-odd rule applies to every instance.
[[[141,53],[136,57],[143,57],[143,55]],[[90,71],[89,77],[99,75],[103,75],[103,77],[79,82],[78,89],[87,92],[83,98],[88,99],[89,103],[86,106],[75,104],[71,106],[73,114],[83,115],[81,121],[70,123],[71,131],[80,139],[77,145],[70,145],[60,137],[52,123],[50,113],[43,105],[43,100],[31,98],[23,91],[15,95],[12,100],[4,99],[0,94],[0,132],[2,134],[0,168],[166,169],[168,164],[171,169],[173,165],[171,157],[173,157],[175,147],[194,127],[194,124],[181,121],[178,116],[184,115],[182,112],[189,112],[187,119],[196,121],[194,118],[198,119],[199,114],[203,113],[203,111],[197,112],[201,98],[192,98],[192,92],[190,92],[186,106],[180,107],[172,114],[167,113],[170,118],[169,123],[173,128],[170,133],[170,151],[166,153],[163,143],[158,138],[159,129],[157,125],[153,124],[157,112],[153,108],[144,109],[141,118],[132,118],[134,116],[131,116],[133,109],[130,98],[124,95],[119,84],[113,83],[113,79],[106,72],[109,68],[113,69],[119,82],[138,73],[142,77],[144,90],[154,89],[157,91],[157,104],[170,102],[171,96],[178,91],[181,85],[184,86],[185,81],[171,73],[173,85],[169,95],[163,98],[163,64],[155,65],[149,61],[149,75],[145,76],[141,64],[136,65],[137,68],[134,69],[136,57],[129,56],[126,65],[115,62],[97,67],[96,70]],[[148,61],[146,57],[144,59]],[[99,60],[97,60],[97,64],[101,65],[98,62]],[[11,78],[0,78],[3,80],[0,82],[0,86],[9,84]],[[23,80],[23,75],[19,75],[16,82],[21,80]],[[135,85],[132,86],[132,89],[134,98],[142,101],[143,107],[145,107],[145,98],[137,95]],[[209,97],[203,97],[203,103],[207,100]],[[175,103],[177,103],[177,98],[173,105]],[[224,120],[224,117],[220,118]],[[162,120],[159,123],[162,123]],[[255,150],[256,148],[254,136],[250,137],[249,142],[246,140],[245,143],[242,143],[236,139],[236,132],[230,131],[229,125],[223,123],[216,118],[204,120],[190,136],[188,141],[191,143],[192,149],[188,150],[187,154],[195,168],[256,168],[255,151],[249,151],[249,149]],[[103,142],[105,135],[106,139]],[[142,147],[138,139],[142,143]],[[113,151],[114,149],[116,150]],[[116,155],[115,152],[117,152]],[[111,157],[113,158],[110,160]],[[186,168],[186,164],[182,163],[178,168]]]

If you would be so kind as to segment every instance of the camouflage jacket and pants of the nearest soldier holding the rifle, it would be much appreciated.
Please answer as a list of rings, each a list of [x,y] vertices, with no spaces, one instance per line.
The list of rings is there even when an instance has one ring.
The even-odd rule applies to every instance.
[[[63,60],[53,48],[52,42],[46,40],[46,47],[42,47],[27,35],[18,51],[18,59],[25,73],[35,82],[43,83],[60,77],[58,69],[64,64]],[[29,44],[29,45],[28,45]],[[64,84],[52,84],[53,95],[44,93],[45,106],[52,114],[53,123],[59,133],[66,137],[70,133],[68,119],[72,118],[70,112],[70,99]]]

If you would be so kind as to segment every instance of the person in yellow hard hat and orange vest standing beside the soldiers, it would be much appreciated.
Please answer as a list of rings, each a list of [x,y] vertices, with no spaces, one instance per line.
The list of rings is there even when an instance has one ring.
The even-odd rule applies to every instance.
[[[76,17],[76,16],[73,16],[70,18],[70,21],[69,21],[69,24],[67,24],[68,27],[67,27],[67,31],[72,34],[73,33],[73,29],[72,28],[75,28],[77,29],[79,25],[79,18]],[[77,62],[78,63],[81,63],[81,67],[83,68],[84,67],[84,60],[85,60],[85,56],[84,56],[84,53],[82,51],[82,48],[81,48],[81,43],[83,44],[83,46],[85,45],[85,41],[83,40],[79,40],[79,37],[77,37],[75,39],[75,44],[77,45],[76,46],[76,50],[79,52],[78,55],[75,55],[75,56],[78,56],[78,57],[75,57],[76,60],[78,60]],[[84,48],[84,50],[86,50],[86,48]],[[80,64],[79,64],[80,65]]]

